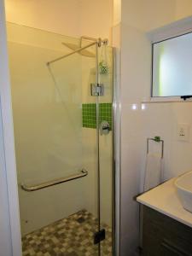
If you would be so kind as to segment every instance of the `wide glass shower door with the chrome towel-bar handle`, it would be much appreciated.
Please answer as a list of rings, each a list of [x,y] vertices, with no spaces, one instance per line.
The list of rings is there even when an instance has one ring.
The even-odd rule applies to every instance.
[[[96,47],[92,57],[74,54],[64,37],[8,23],[9,67],[15,126],[23,253],[98,255],[96,155]],[[49,188],[27,186],[88,175]]]

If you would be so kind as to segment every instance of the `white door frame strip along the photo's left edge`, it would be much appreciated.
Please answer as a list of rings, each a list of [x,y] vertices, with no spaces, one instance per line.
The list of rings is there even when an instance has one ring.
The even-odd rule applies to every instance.
[[[20,217],[3,1],[0,2],[0,254],[20,256]]]

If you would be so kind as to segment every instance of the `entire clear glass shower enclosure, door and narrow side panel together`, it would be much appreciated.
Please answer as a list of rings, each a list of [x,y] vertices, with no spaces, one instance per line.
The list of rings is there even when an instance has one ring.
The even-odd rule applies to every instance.
[[[7,29],[23,255],[113,255],[113,49]]]

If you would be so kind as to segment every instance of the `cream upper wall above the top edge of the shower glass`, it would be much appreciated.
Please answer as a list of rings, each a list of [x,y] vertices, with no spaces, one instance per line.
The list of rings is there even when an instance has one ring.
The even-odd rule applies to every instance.
[[[80,35],[78,0],[6,0],[6,19],[25,26],[37,27],[68,36]]]

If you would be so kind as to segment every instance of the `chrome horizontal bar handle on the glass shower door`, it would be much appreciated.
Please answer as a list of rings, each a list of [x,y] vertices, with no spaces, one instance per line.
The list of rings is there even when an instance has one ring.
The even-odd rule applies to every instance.
[[[36,184],[36,185],[26,185],[25,183],[21,183],[20,187],[21,187],[21,189],[23,189],[25,191],[35,191],[35,190],[38,190],[38,189],[44,189],[44,188],[54,186],[56,184],[66,183],[67,181],[70,181],[70,180],[73,180],[73,179],[76,179],[76,178],[79,178],[79,177],[84,177],[84,176],[87,176],[87,175],[88,175],[88,172],[83,169],[79,172],[79,174],[73,174],[73,175],[68,176],[68,177],[61,177],[61,178],[51,180],[51,181],[46,182],[46,183],[40,183],[40,184]]]

